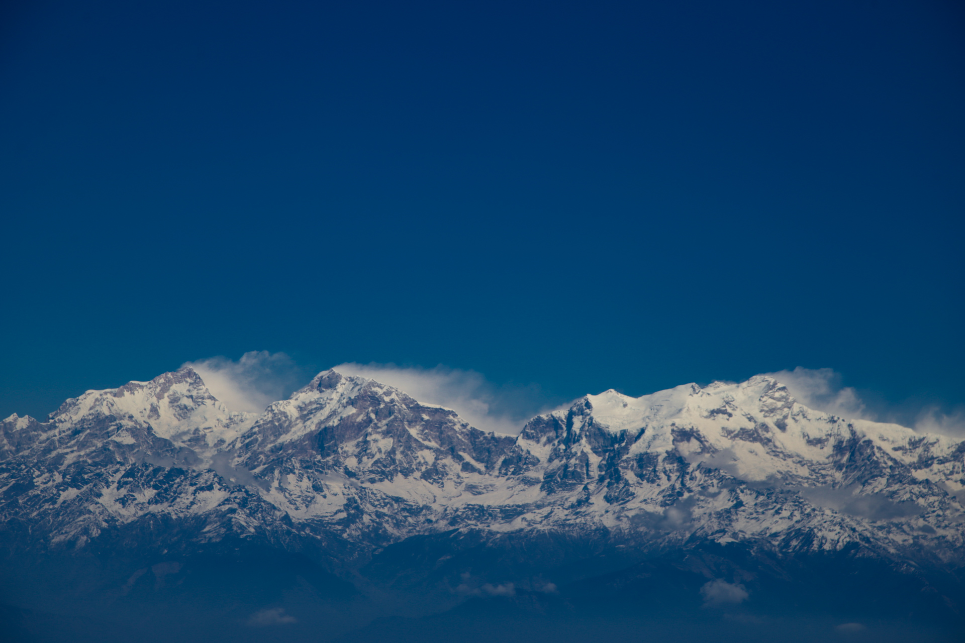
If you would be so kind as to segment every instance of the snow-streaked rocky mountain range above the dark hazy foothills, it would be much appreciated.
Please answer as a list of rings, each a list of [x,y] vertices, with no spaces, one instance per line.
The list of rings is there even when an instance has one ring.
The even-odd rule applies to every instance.
[[[32,549],[163,518],[199,545],[560,532],[958,567],[963,490],[965,442],[814,411],[769,376],[586,395],[518,436],[335,370],[261,415],[185,367],[0,422],[0,522]]]

